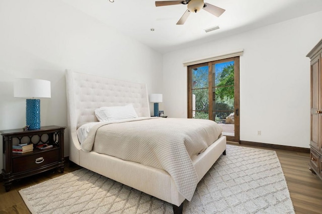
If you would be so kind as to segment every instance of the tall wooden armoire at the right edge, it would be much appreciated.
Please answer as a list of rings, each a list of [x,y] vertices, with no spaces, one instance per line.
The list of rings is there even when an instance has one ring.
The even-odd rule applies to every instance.
[[[311,59],[310,170],[322,179],[322,39],[306,55]]]

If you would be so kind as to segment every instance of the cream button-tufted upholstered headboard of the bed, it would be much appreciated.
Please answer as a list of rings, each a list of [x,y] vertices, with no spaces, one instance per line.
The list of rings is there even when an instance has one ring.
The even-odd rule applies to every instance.
[[[71,128],[97,122],[95,109],[132,103],[139,117],[150,117],[146,85],[66,71]]]

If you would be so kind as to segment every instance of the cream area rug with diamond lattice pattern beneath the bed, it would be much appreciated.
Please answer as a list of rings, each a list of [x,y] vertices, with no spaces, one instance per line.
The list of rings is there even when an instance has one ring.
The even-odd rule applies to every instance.
[[[227,145],[184,213],[295,213],[275,151]],[[19,191],[32,213],[173,213],[172,205],[87,169]]]

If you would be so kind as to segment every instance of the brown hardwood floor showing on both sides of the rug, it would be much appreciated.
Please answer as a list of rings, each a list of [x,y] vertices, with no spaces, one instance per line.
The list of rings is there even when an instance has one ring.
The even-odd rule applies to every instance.
[[[308,169],[309,154],[275,151],[281,162],[296,214],[322,213],[322,180]],[[79,169],[78,166],[69,166],[67,163],[64,173],[77,169]],[[24,178],[14,182],[9,192],[5,191],[3,183],[1,183],[0,213],[30,213],[18,191],[60,175],[62,174],[58,171],[48,171]]]

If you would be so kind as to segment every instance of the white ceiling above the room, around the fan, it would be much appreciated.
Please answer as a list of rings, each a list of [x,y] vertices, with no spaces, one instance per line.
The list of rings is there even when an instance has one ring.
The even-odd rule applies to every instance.
[[[322,11],[322,0],[205,0],[226,11],[217,18],[201,10],[176,25],[187,6],[155,7],[152,0],[62,1],[160,53]],[[220,29],[205,33],[214,26]]]

